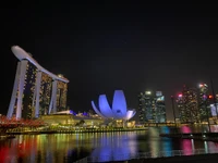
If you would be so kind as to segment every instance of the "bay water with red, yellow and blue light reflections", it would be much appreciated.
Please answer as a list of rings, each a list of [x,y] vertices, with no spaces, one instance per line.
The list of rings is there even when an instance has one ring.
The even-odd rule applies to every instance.
[[[178,140],[159,137],[159,133],[170,133],[168,127],[150,127],[143,131],[21,135],[14,139],[0,141],[0,162],[73,162],[87,155],[98,156],[98,161],[130,160],[138,152],[160,151],[170,156],[171,150],[193,149],[210,151],[218,149],[216,143],[196,140]]]

